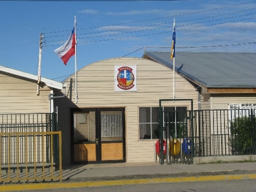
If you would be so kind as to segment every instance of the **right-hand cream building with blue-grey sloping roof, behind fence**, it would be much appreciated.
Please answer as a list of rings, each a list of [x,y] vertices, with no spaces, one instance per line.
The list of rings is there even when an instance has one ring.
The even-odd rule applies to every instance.
[[[146,51],[143,58],[173,68],[169,55]],[[176,52],[175,71],[198,90],[200,110],[193,114],[195,156],[255,154],[255,59],[255,53]],[[240,126],[230,129],[238,119],[252,122],[246,126],[251,134],[247,133],[250,139],[243,146],[233,133]]]

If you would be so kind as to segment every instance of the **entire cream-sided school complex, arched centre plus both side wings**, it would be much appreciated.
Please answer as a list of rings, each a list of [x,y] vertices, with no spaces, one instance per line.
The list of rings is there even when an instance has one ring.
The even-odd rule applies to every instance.
[[[39,92],[37,76],[0,66],[0,113],[54,108],[63,164],[153,161],[159,99],[179,99],[161,103],[175,111],[191,109],[186,99],[194,110],[255,109],[255,60],[256,53],[176,52],[173,73],[170,52],[146,51],[142,58],[86,65],[64,80],[64,89],[60,82],[41,78]],[[203,131],[209,134],[195,136],[215,154],[212,135],[222,134],[216,134],[214,120],[207,121]]]

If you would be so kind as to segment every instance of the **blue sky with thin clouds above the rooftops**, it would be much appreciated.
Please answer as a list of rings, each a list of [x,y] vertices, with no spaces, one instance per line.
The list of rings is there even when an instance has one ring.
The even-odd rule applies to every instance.
[[[253,0],[0,0],[0,65],[62,81],[75,71],[54,49],[76,17],[76,67],[144,51],[256,52]],[[175,57],[178,59],[178,57]],[[103,71],[102,67],[102,71]]]

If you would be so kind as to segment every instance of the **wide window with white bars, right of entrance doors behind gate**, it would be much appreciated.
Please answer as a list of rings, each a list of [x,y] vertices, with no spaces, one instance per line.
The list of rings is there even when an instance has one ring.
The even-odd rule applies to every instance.
[[[157,139],[158,136],[158,110],[159,107],[139,107],[138,124],[139,139]],[[185,123],[185,106],[163,107],[165,127],[171,131],[172,137],[179,136],[180,129]],[[167,133],[169,132],[167,130]],[[182,132],[182,131],[181,131]],[[164,135],[165,136],[165,135]]]

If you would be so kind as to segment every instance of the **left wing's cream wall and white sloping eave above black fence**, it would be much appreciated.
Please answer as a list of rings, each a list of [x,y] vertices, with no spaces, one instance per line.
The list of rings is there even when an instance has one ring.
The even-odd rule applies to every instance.
[[[62,83],[0,65],[0,113],[42,113],[53,109],[52,97]],[[37,95],[38,94],[38,95]]]

